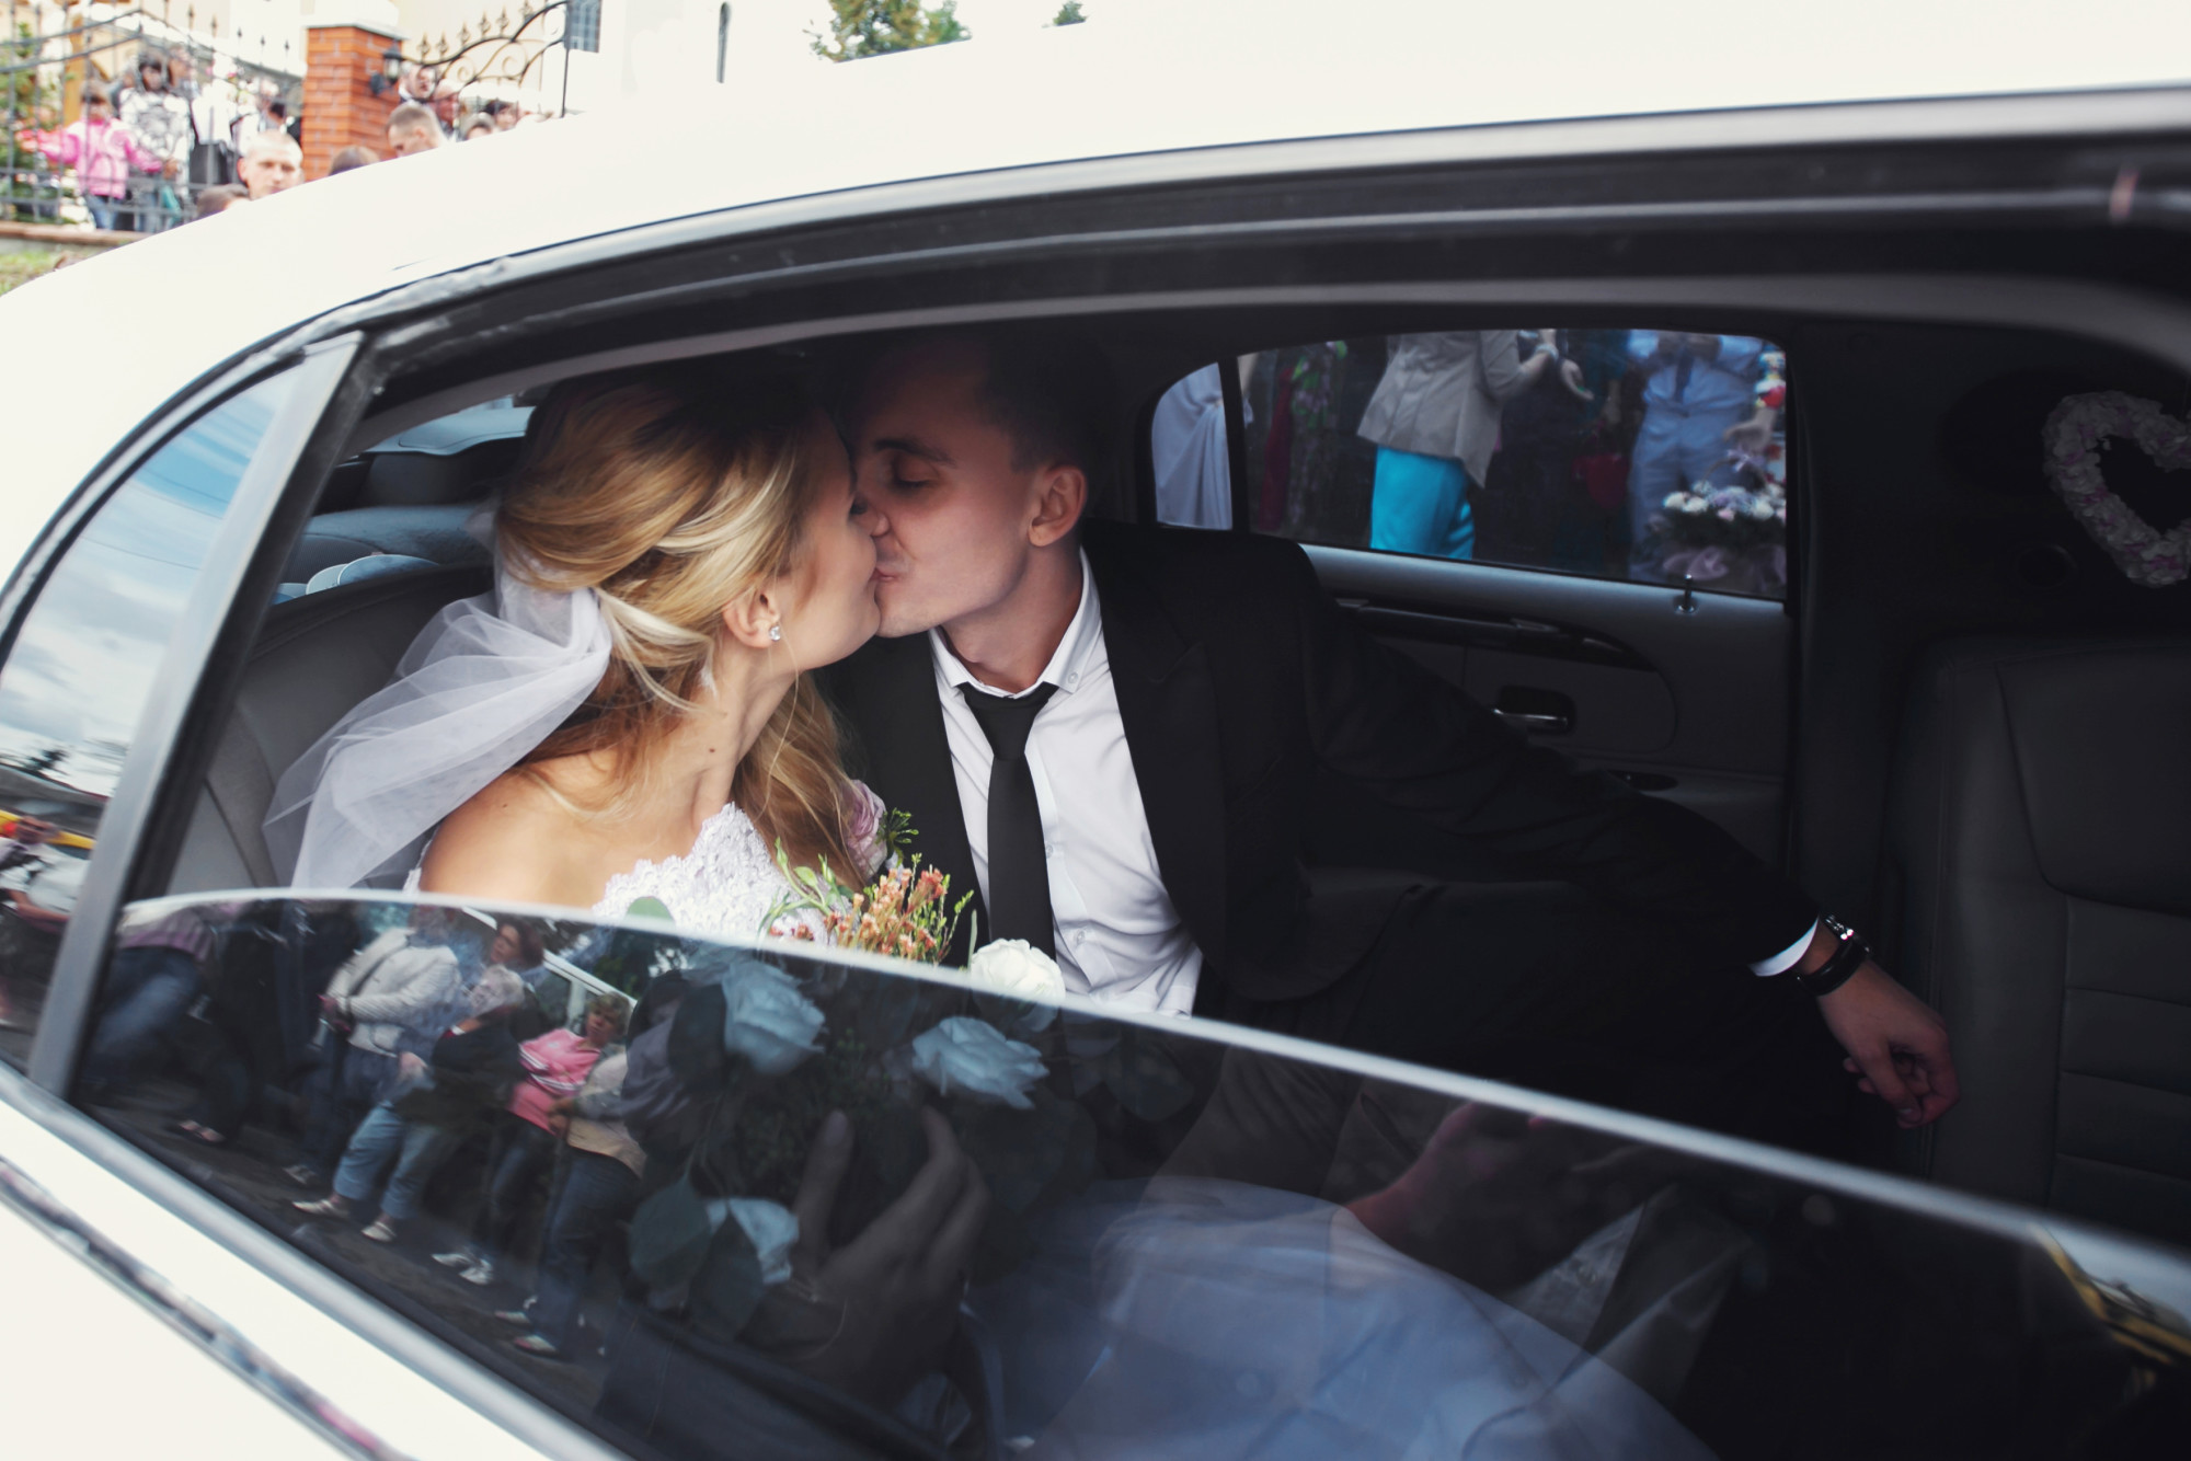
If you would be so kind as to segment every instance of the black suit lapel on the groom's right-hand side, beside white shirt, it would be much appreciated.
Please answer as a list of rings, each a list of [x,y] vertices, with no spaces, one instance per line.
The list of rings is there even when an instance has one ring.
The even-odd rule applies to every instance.
[[[1093,528],[1093,524],[1091,524]],[[1212,966],[1225,959],[1225,773],[1209,653],[1179,633],[1109,534],[1089,532],[1117,714],[1172,907]]]

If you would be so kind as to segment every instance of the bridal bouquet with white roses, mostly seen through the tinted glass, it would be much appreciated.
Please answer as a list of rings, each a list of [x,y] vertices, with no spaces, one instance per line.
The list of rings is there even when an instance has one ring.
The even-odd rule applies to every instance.
[[[905,874],[901,913],[920,896],[920,874]],[[940,898],[936,889],[914,911]],[[859,911],[870,916],[874,900]],[[778,964],[719,944],[690,946],[681,977],[675,1016],[633,1040],[627,1075],[627,1124],[649,1161],[681,1167],[633,1216],[631,1264],[655,1308],[762,1349],[771,1325],[802,1312],[798,1295],[771,1295],[791,1277],[791,1203],[833,1111],[850,1119],[854,1148],[830,1242],[854,1240],[907,1189],[927,1161],[920,1111],[936,1108],[993,1196],[973,1253],[973,1279],[986,1281],[1034,1251],[1043,1211],[1098,1176],[1087,1095],[1109,1089],[1150,1121],[1194,1095],[1155,1032],[1082,1019],[1069,1051],[1054,1003],[1065,979],[1023,942],[979,948],[966,983],[791,953]]]

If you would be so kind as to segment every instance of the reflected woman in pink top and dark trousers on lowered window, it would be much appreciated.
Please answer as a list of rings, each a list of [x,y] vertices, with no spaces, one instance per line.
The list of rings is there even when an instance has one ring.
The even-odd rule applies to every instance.
[[[495,1259],[508,1255],[517,1240],[532,1181],[563,1146],[572,1097],[600,1060],[600,1047],[622,1029],[622,1001],[603,994],[585,1008],[583,1032],[550,1029],[519,1047],[526,1075],[495,1126],[486,1154],[486,1203],[480,1205],[471,1242],[454,1253],[436,1253],[436,1262],[458,1268],[458,1277],[471,1284],[495,1279]]]

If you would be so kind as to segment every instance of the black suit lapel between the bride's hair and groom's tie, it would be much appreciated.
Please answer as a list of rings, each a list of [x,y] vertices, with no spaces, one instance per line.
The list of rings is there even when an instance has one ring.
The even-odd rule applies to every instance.
[[[960,922],[960,940],[944,957],[947,964],[964,964],[966,935],[975,920],[988,927],[988,909],[982,907],[982,885],[973,876],[973,848],[966,843],[966,813],[951,771],[951,743],[944,740],[944,712],[936,699],[929,637],[870,640],[830,675],[828,690],[859,736],[859,764],[868,784],[892,810],[911,817],[911,850],[920,854],[920,865],[951,878],[953,902],[973,894],[968,916]]]

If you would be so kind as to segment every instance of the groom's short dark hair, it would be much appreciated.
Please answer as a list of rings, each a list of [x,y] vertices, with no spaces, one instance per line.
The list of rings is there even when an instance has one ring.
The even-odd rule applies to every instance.
[[[982,405],[1012,440],[1012,467],[1065,462],[1085,471],[1091,484],[1104,475],[1117,383],[1093,340],[1036,324],[940,329],[894,340],[872,359],[936,346],[982,353]]]

